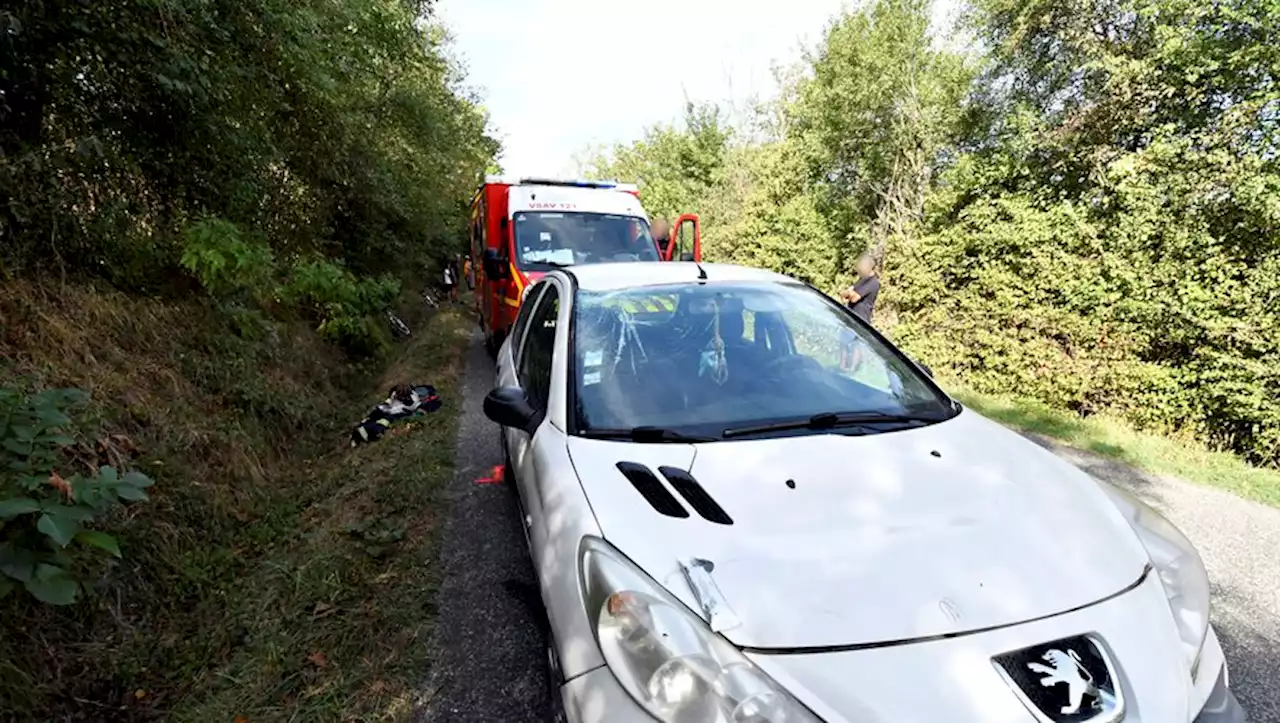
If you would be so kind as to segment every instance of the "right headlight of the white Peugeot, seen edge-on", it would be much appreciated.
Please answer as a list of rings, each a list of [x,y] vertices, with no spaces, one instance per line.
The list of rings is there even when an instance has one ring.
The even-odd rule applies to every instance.
[[[1204,636],[1208,635],[1210,590],[1204,563],[1190,541],[1165,516],[1115,485],[1100,484],[1111,494],[1116,507],[1147,548],[1151,566],[1160,576],[1165,596],[1169,598],[1183,654],[1194,679]]]

